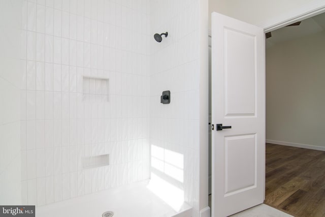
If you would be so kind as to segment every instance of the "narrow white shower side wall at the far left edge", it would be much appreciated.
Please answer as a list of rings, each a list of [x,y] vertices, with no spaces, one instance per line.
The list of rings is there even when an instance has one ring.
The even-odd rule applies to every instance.
[[[20,0],[0,1],[0,204],[2,205],[21,203],[20,12]]]

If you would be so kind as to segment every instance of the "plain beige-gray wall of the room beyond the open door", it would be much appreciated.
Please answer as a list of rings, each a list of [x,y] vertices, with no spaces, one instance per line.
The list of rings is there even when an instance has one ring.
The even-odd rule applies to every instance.
[[[266,138],[325,150],[325,32],[266,51]]]

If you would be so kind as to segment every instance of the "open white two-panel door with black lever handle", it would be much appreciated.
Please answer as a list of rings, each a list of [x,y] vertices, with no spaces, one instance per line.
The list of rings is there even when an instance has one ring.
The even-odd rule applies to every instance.
[[[264,201],[265,36],[214,12],[211,38],[212,216],[221,217]]]

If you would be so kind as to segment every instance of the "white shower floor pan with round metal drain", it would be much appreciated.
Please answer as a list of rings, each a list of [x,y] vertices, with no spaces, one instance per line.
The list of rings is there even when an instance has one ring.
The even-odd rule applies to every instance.
[[[147,189],[147,181],[117,187],[57,203],[36,207],[36,217],[190,217],[192,208],[184,203],[174,210]]]

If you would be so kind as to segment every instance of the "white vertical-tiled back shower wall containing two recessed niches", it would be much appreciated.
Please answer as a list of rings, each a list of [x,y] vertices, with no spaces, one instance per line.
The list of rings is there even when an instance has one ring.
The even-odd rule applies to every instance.
[[[149,178],[148,0],[22,8],[22,203]],[[109,166],[83,168],[101,154]]]

